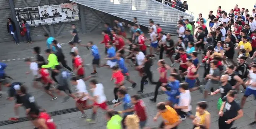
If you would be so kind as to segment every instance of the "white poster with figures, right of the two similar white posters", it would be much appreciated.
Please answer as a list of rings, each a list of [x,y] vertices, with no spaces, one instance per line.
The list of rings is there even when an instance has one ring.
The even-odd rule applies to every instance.
[[[59,23],[62,22],[62,14],[60,5],[50,5],[50,16],[52,17],[52,23]]]

